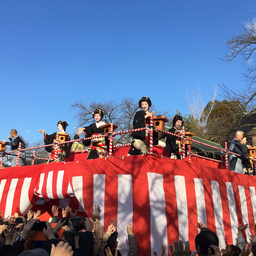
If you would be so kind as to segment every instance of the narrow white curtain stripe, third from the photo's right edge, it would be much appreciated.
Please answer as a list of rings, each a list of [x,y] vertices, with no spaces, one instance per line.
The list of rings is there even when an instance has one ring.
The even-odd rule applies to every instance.
[[[238,219],[237,219],[237,213],[236,213],[233,184],[231,182],[226,182],[226,188],[227,188],[227,194],[228,194],[228,205],[229,205],[229,214],[230,214],[230,222],[231,222],[232,240],[233,240],[233,245],[235,245],[236,238],[237,238]]]

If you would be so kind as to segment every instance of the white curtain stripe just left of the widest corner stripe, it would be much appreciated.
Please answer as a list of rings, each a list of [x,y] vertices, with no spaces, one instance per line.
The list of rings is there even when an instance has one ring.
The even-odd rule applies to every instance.
[[[133,203],[132,203],[132,175],[119,174],[118,175],[118,205],[117,205],[117,219],[118,219],[118,249],[122,255],[129,253],[127,246],[127,224],[132,224]],[[120,222],[120,223],[119,223]],[[122,227],[122,228],[121,228]]]

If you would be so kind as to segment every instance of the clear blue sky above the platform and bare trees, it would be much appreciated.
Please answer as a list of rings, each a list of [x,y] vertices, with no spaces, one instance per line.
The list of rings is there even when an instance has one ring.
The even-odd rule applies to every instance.
[[[0,0],[0,140],[27,140],[76,120],[70,104],[149,96],[188,113],[185,90],[205,103],[216,83],[245,86],[242,58],[219,60],[225,42],[256,17],[256,2]],[[218,89],[221,93],[221,89]],[[29,131],[29,132],[27,132]]]

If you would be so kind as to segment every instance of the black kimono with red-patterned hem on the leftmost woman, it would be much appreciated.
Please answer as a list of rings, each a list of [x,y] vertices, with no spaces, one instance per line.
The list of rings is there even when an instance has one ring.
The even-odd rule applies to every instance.
[[[55,138],[56,138],[56,132],[54,132],[51,135],[46,134],[46,136],[44,136],[44,144],[45,145],[53,144]],[[65,146],[58,146],[57,162],[65,162],[65,158],[68,158],[70,155],[70,149],[71,149],[72,143],[67,143],[64,145]],[[54,161],[54,146],[45,147],[45,150],[47,152],[51,153],[49,162],[53,162]]]

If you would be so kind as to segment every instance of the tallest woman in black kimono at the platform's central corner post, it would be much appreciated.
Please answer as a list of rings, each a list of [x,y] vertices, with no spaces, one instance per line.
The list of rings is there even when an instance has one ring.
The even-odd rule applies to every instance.
[[[155,111],[149,112],[151,107],[151,101],[149,97],[142,97],[139,100],[140,111],[136,112],[134,120],[132,122],[133,129],[139,129],[146,127],[150,124],[149,117],[155,115]],[[143,155],[148,153],[148,132],[147,130],[134,131],[131,133],[132,141],[131,148],[128,155]]]

